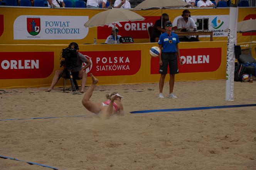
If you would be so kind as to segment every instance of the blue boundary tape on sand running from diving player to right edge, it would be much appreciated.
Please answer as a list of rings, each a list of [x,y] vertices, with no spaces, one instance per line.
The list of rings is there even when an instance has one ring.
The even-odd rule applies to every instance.
[[[170,108],[170,109],[159,109],[159,110],[140,110],[140,111],[133,111],[130,113],[135,114],[135,113],[152,113],[152,112],[174,112],[174,111],[204,110],[204,109],[212,109],[212,108],[250,107],[250,106],[256,106],[256,104],[209,106],[209,107],[189,107],[189,108]]]

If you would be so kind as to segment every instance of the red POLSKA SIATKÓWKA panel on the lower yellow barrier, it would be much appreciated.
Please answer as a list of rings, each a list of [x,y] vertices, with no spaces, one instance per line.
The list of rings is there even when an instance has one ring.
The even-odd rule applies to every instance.
[[[92,62],[95,76],[133,75],[140,70],[141,51],[81,52]]]

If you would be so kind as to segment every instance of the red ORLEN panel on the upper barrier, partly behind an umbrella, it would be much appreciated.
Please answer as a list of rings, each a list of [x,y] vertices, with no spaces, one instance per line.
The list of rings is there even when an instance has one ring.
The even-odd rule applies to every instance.
[[[116,27],[118,27],[118,35],[123,37],[133,37],[133,38],[148,38],[147,28],[150,25],[154,25],[155,21],[160,19],[159,16],[154,17],[144,17],[144,21],[134,21],[134,22],[116,22]],[[114,25],[105,25],[104,27],[97,28],[98,39],[106,39],[111,35],[111,29]]]

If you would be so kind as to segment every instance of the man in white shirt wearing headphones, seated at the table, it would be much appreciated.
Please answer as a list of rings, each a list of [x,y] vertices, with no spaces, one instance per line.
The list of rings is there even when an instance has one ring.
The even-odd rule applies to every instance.
[[[182,12],[182,17],[177,20],[177,30],[179,31],[187,31],[187,28],[194,28],[197,30],[197,26],[192,18],[190,18],[190,11],[184,10]],[[181,36],[179,37],[180,42],[194,42],[198,41],[197,38],[191,36]]]

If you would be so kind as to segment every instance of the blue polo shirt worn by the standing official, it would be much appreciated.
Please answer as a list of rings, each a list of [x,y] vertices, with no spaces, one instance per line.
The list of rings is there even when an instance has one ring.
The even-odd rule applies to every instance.
[[[158,44],[161,44],[163,46],[162,52],[165,52],[165,53],[177,52],[176,43],[179,43],[179,42],[180,40],[178,35],[173,32],[171,32],[171,36],[168,35],[166,32],[162,33],[162,35],[160,35],[158,40]]]

